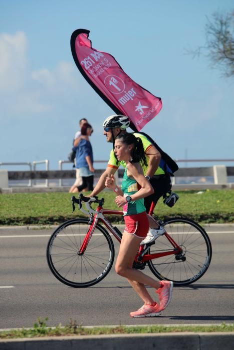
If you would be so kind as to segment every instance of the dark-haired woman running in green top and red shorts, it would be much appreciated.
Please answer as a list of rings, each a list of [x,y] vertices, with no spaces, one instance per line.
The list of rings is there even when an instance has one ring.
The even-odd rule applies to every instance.
[[[114,153],[118,161],[124,160],[126,168],[121,189],[116,186],[113,175],[107,176],[105,185],[113,189],[117,196],[115,203],[123,206],[125,229],[123,232],[115,271],[127,278],[129,283],[144,301],[139,310],[130,312],[132,317],[154,317],[168,305],[171,299],[173,283],[156,281],[142,271],[132,268],[140,242],[149,230],[148,217],[143,198],[153,193],[153,187],[144,177],[141,164],[146,164],[144,148],[139,137],[132,133],[119,134],[115,139]],[[154,287],[160,303],[156,303],[145,285]]]

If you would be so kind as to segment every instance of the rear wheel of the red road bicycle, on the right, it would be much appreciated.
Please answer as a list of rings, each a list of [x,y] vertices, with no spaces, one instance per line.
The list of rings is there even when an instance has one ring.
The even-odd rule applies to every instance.
[[[212,248],[207,233],[198,223],[181,217],[165,220],[164,228],[182,252],[149,260],[149,268],[159,279],[171,280],[175,285],[195,282],[205,273],[211,260]],[[172,249],[169,240],[162,235],[155,240],[155,247],[150,247],[150,253]]]

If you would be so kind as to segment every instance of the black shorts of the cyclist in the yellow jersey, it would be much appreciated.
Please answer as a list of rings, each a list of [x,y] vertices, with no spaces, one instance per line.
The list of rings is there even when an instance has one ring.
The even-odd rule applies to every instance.
[[[158,199],[171,190],[171,178],[169,174],[154,175],[150,179],[150,183],[154,189],[154,193],[144,198],[146,211],[150,209],[152,201],[156,204]]]

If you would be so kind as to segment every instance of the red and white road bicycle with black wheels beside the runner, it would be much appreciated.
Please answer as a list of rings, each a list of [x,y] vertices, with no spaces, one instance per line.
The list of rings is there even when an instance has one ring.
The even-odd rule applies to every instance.
[[[92,208],[94,203],[98,204],[96,209]],[[121,242],[122,233],[106,215],[123,215],[123,212],[103,208],[104,198],[97,196],[72,196],[73,211],[76,204],[89,217],[65,221],[55,229],[48,242],[47,261],[56,278],[79,288],[94,285],[109,273],[115,256],[112,236]],[[148,213],[151,216],[154,206],[152,203]],[[174,285],[195,282],[211,260],[207,233],[185,217],[165,219],[160,224],[165,233],[149,244],[140,245],[133,267],[143,269],[148,264],[158,279],[171,280]]]

